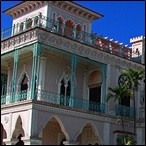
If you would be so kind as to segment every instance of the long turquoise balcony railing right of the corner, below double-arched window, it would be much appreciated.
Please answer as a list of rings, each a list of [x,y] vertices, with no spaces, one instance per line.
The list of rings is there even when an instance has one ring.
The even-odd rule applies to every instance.
[[[41,101],[49,102],[52,104],[63,105],[74,109],[83,109],[101,113],[105,112],[105,104],[102,103],[97,103],[76,97],[64,96],[48,91],[40,91],[40,94],[38,96],[40,96]]]

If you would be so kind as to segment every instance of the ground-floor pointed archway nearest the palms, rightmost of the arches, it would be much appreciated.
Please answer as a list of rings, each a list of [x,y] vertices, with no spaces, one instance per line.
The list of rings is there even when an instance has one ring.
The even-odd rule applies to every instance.
[[[79,145],[97,145],[100,143],[99,137],[90,123],[84,126],[76,141],[79,142]]]

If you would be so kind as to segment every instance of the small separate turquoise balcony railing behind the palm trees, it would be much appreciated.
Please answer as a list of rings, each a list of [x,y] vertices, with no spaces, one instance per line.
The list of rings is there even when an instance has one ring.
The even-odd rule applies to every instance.
[[[134,118],[134,107],[115,105],[116,115]]]

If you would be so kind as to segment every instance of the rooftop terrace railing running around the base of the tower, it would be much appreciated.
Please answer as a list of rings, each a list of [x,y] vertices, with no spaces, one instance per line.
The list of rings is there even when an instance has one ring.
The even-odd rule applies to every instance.
[[[40,29],[44,29],[50,33],[55,33],[62,37],[66,37],[68,39],[72,39],[77,42],[92,46],[94,49],[109,52],[116,56],[141,63],[141,58],[132,57],[133,54],[131,48],[110,41],[107,38],[103,38],[95,34],[90,34],[74,27],[69,27],[63,23],[59,23],[58,21],[55,21],[53,19],[41,15],[35,16],[31,19],[21,22],[18,25],[14,25],[9,29],[1,31],[1,41],[2,41],[1,52],[3,53],[3,50],[7,48],[6,46],[10,46],[12,43],[15,44],[17,43],[18,40],[15,40],[16,42],[7,41],[5,43],[3,43],[3,41],[8,40],[13,36],[28,32],[36,27]]]

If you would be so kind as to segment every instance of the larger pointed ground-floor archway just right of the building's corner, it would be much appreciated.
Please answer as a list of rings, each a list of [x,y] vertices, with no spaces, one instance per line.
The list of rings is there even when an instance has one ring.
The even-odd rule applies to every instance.
[[[42,137],[42,145],[63,145],[63,141],[66,141],[66,136],[56,118],[52,118],[46,124],[40,137]]]

